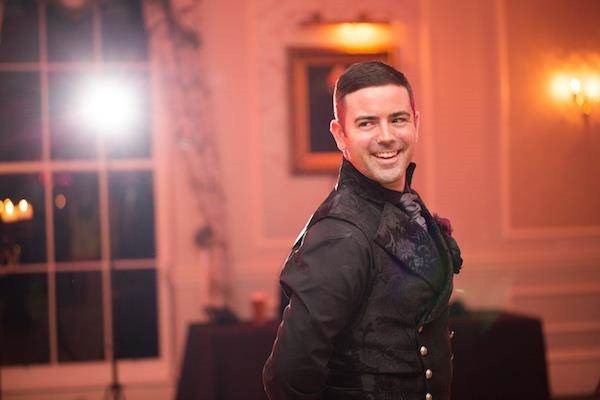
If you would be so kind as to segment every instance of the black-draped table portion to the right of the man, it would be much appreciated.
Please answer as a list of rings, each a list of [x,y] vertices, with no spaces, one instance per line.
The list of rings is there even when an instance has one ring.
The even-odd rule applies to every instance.
[[[545,344],[537,318],[477,311],[450,318],[454,350],[452,398],[550,398]]]

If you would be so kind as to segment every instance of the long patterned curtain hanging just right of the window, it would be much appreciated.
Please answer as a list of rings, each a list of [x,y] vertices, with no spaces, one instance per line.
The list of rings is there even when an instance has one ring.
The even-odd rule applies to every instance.
[[[228,305],[230,297],[225,197],[209,94],[203,81],[199,0],[144,0],[150,55],[158,63],[170,129],[186,162],[197,205],[204,216],[196,242],[209,252],[209,301]]]

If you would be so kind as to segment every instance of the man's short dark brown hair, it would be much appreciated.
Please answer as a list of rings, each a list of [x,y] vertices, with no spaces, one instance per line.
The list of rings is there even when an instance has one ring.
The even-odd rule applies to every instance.
[[[335,119],[344,125],[344,97],[372,86],[398,85],[406,88],[410,107],[415,112],[415,98],[408,79],[394,67],[380,61],[366,61],[352,64],[335,83],[333,92],[333,112]]]

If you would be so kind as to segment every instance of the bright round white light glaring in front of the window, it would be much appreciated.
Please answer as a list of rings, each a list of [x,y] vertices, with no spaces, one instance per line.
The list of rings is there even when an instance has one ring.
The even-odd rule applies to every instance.
[[[102,134],[127,133],[138,119],[139,98],[125,80],[95,78],[79,94],[82,122]]]

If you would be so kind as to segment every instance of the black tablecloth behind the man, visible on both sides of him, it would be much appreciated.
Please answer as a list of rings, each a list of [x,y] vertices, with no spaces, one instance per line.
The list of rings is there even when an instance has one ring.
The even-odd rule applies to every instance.
[[[536,318],[482,311],[451,317],[455,400],[549,398],[544,339]],[[262,366],[277,323],[193,324],[177,400],[264,400]]]

